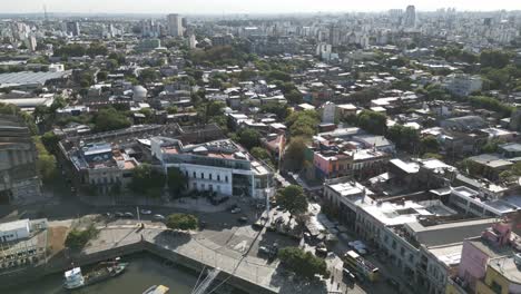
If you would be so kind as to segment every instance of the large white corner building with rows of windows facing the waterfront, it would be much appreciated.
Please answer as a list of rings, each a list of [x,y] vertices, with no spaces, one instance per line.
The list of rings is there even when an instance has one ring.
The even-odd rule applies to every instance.
[[[229,139],[184,146],[180,140],[154,137],[151,153],[165,169],[177,167],[191,190],[265,199],[274,194],[273,171]]]

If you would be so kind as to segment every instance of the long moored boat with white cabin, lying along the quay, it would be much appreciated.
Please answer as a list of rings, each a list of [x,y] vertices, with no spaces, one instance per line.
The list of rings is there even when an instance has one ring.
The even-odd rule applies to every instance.
[[[63,287],[67,290],[75,290],[89,286],[122,274],[127,266],[128,263],[120,263],[120,258],[117,257],[110,262],[99,263],[92,271],[89,271],[85,275],[81,273],[80,267],[73,267],[65,272]]]

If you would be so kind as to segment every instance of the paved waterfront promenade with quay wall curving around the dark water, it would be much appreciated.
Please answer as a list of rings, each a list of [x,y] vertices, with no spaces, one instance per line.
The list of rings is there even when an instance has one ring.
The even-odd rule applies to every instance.
[[[263,283],[259,277],[271,276],[273,267],[256,264],[247,256],[228,256],[199,244],[188,234],[171,234],[161,228],[146,228],[138,232],[132,228],[105,228],[97,239],[80,253],[62,252],[47,264],[11,272],[0,276],[2,287],[36,281],[46,275],[62,273],[73,262],[85,266],[117,256],[136,253],[150,253],[175,264],[200,272],[204,268],[219,267],[217,280],[225,281],[233,287],[247,293],[277,293],[277,288]]]

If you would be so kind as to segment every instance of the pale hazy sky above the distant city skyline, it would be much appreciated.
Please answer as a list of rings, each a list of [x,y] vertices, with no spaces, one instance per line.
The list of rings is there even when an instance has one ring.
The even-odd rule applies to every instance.
[[[0,0],[0,12],[132,13],[285,13],[315,11],[383,11],[391,8],[435,10],[521,10],[521,0]]]

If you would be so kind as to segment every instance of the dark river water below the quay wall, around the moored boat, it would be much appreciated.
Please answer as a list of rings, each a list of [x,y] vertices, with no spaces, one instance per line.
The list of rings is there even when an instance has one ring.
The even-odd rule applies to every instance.
[[[117,277],[73,291],[78,294],[141,294],[151,285],[165,285],[168,294],[191,293],[197,282],[197,273],[177,266],[167,265],[163,259],[149,254],[122,257],[130,265]],[[1,290],[1,294],[58,294],[68,293],[62,288],[62,274],[47,276],[28,285]],[[235,292],[234,292],[235,293]]]

